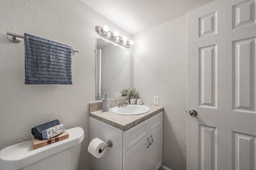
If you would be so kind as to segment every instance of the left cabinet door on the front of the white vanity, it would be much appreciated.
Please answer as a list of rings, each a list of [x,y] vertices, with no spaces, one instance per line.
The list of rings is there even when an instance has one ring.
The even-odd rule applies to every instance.
[[[123,170],[148,170],[149,136],[123,154]]]

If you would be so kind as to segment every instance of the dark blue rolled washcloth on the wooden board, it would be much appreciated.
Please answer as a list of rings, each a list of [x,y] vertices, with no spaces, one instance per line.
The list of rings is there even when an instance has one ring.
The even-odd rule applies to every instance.
[[[38,125],[36,127],[33,127],[31,129],[31,133],[32,135],[36,138],[36,139],[39,139],[39,140],[43,140],[42,138],[42,131],[44,131],[45,129],[48,129],[50,127],[53,127],[53,126],[56,126],[56,125],[59,125],[60,124],[60,121],[59,120],[53,120],[53,121],[49,121],[49,122],[46,122],[42,125]]]

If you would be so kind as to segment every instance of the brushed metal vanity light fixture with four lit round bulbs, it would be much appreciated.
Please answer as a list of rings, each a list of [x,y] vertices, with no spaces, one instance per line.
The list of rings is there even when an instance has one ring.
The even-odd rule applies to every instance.
[[[102,26],[96,26],[95,27],[96,32],[101,35],[102,37],[105,37],[106,39],[109,39],[115,43],[118,43],[126,48],[130,48],[131,45],[133,45],[133,41],[127,41],[127,37],[120,37],[118,31],[111,32],[109,31],[109,28],[107,25]]]

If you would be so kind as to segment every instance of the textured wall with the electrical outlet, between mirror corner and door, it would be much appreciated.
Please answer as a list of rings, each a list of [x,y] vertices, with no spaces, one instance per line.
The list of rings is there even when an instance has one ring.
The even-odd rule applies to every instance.
[[[134,36],[134,87],[164,106],[164,166],[186,170],[186,15]]]

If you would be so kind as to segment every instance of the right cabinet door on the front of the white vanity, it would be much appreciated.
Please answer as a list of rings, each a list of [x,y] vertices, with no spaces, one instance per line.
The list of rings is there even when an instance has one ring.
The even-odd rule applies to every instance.
[[[163,162],[163,124],[149,134],[149,169],[159,170]]]

